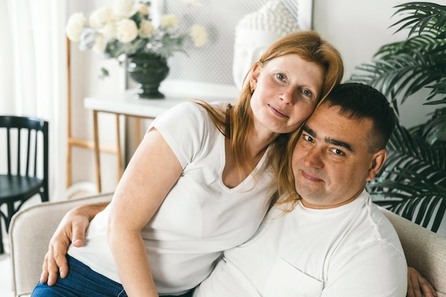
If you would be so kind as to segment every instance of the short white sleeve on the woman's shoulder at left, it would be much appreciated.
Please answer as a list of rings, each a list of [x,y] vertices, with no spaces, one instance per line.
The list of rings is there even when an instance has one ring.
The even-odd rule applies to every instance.
[[[202,106],[186,102],[158,115],[147,131],[155,127],[161,133],[184,169],[210,141],[211,125]]]

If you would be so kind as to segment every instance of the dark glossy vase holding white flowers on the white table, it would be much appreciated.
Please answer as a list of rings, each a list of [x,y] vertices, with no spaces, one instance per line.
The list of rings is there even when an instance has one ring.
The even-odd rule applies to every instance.
[[[164,94],[158,88],[169,74],[167,60],[150,53],[138,53],[128,58],[127,71],[130,78],[138,83],[138,98],[161,99]]]

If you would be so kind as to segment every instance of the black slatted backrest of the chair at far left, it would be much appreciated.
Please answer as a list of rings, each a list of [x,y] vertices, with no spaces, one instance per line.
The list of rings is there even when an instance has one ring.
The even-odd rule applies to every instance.
[[[38,118],[0,115],[1,130],[6,130],[0,134],[6,137],[6,141],[0,140],[0,145],[6,144],[6,160],[1,159],[0,162],[6,164],[7,174],[38,177],[38,162],[41,162],[41,179],[48,189],[48,122]]]

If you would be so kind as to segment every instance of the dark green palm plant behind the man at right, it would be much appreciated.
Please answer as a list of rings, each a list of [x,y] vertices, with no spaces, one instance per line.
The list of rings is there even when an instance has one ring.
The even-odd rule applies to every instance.
[[[438,108],[427,123],[397,125],[388,161],[367,188],[375,203],[436,232],[446,212],[446,6],[409,2],[395,9],[401,19],[392,26],[408,30],[408,38],[382,46],[350,80],[380,90],[397,115],[405,100]],[[419,95],[425,88],[427,98]]]

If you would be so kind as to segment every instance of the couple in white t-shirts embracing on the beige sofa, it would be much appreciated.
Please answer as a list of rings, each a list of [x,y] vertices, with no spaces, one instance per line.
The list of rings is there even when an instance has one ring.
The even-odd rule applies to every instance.
[[[252,66],[234,106],[160,115],[112,202],[63,219],[33,296],[403,297],[413,277],[435,296],[408,278],[365,192],[393,110],[342,76],[318,33],[291,33]]]

